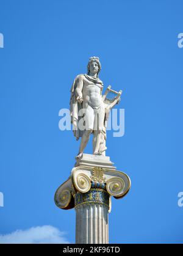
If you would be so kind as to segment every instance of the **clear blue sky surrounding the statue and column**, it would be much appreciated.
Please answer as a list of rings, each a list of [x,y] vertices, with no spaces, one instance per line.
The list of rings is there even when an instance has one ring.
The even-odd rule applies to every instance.
[[[182,243],[182,1],[0,6],[0,234],[49,225],[74,243],[74,210],[57,208],[54,192],[79,142],[59,130],[58,113],[69,107],[75,76],[99,56],[104,88],[122,89],[125,109],[125,134],[108,131],[107,156],[132,181],[126,197],[112,200],[110,243]]]

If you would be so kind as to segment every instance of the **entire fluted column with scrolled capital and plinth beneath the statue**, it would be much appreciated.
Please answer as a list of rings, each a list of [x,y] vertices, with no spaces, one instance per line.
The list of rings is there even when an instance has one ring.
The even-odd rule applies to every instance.
[[[76,210],[76,243],[109,243],[111,196],[120,199],[131,187],[130,178],[116,170],[108,156],[84,154],[70,177],[56,191],[63,210]]]

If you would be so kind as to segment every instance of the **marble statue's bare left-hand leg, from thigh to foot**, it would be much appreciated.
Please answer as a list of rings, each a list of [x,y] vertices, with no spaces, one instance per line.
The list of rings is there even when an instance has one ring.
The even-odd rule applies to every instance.
[[[79,153],[76,156],[76,158],[81,158],[83,155],[84,149],[90,138],[90,134],[93,131],[94,118],[95,118],[95,115],[94,115],[93,108],[91,108],[91,106],[88,105],[85,110],[85,131],[82,135],[81,144],[79,147]]]

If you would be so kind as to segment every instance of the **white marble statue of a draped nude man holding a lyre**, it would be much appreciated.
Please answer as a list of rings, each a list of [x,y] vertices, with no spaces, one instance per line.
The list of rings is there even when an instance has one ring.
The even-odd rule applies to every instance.
[[[82,158],[91,133],[93,133],[93,155],[105,155],[107,118],[110,109],[120,101],[122,92],[115,92],[109,86],[107,92],[114,93],[113,99],[107,101],[107,92],[102,95],[103,83],[98,77],[101,70],[99,57],[90,57],[87,70],[87,74],[76,76],[71,87],[71,123],[76,139],[81,137],[76,159]]]

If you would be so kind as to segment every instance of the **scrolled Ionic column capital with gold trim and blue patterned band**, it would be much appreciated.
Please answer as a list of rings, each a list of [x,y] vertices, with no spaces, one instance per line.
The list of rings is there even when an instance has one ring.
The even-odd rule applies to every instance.
[[[110,196],[115,199],[124,197],[131,188],[130,178],[124,172],[103,166],[104,163],[101,167],[95,161],[93,166],[86,163],[74,167],[68,180],[56,191],[57,207],[68,210],[88,202],[109,205]]]

